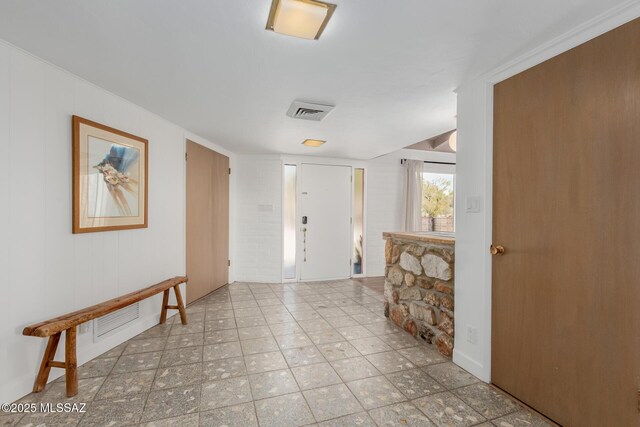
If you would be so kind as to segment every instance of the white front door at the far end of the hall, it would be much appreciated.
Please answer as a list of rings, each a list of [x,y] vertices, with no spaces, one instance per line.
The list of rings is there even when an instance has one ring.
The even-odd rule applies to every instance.
[[[303,231],[301,280],[351,276],[351,168],[303,164],[300,176]],[[306,224],[303,218],[306,217]]]

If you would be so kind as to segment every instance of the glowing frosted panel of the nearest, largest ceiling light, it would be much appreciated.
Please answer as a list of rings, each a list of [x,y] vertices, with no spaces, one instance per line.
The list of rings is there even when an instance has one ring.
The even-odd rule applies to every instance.
[[[313,40],[328,11],[323,5],[299,0],[280,0],[273,30],[276,33]]]

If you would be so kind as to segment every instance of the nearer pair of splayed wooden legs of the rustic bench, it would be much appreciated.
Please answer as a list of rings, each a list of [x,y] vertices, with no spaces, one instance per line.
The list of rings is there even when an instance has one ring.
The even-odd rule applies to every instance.
[[[58,349],[58,344],[60,343],[61,334],[62,332],[58,332],[57,334],[51,335],[49,337],[47,348],[45,349],[44,355],[42,356],[40,370],[38,371],[38,376],[36,377],[36,383],[33,386],[34,393],[42,391],[42,389],[44,389],[44,386],[47,385],[47,380],[49,379],[49,372],[51,372],[51,368],[62,368],[66,371],[65,374],[67,383],[67,397],[72,397],[78,394],[76,327],[72,326],[65,331],[64,362],[56,362],[55,360],[53,360],[53,358],[56,355],[56,350]]]

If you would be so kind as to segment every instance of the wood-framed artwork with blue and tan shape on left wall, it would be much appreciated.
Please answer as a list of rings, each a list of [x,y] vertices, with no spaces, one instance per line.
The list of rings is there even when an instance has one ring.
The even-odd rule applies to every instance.
[[[73,232],[147,227],[149,142],[73,116]]]

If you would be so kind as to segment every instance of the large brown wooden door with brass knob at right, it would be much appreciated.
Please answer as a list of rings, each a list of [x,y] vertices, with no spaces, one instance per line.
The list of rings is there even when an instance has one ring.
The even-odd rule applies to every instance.
[[[492,381],[638,426],[640,20],[495,86]]]

